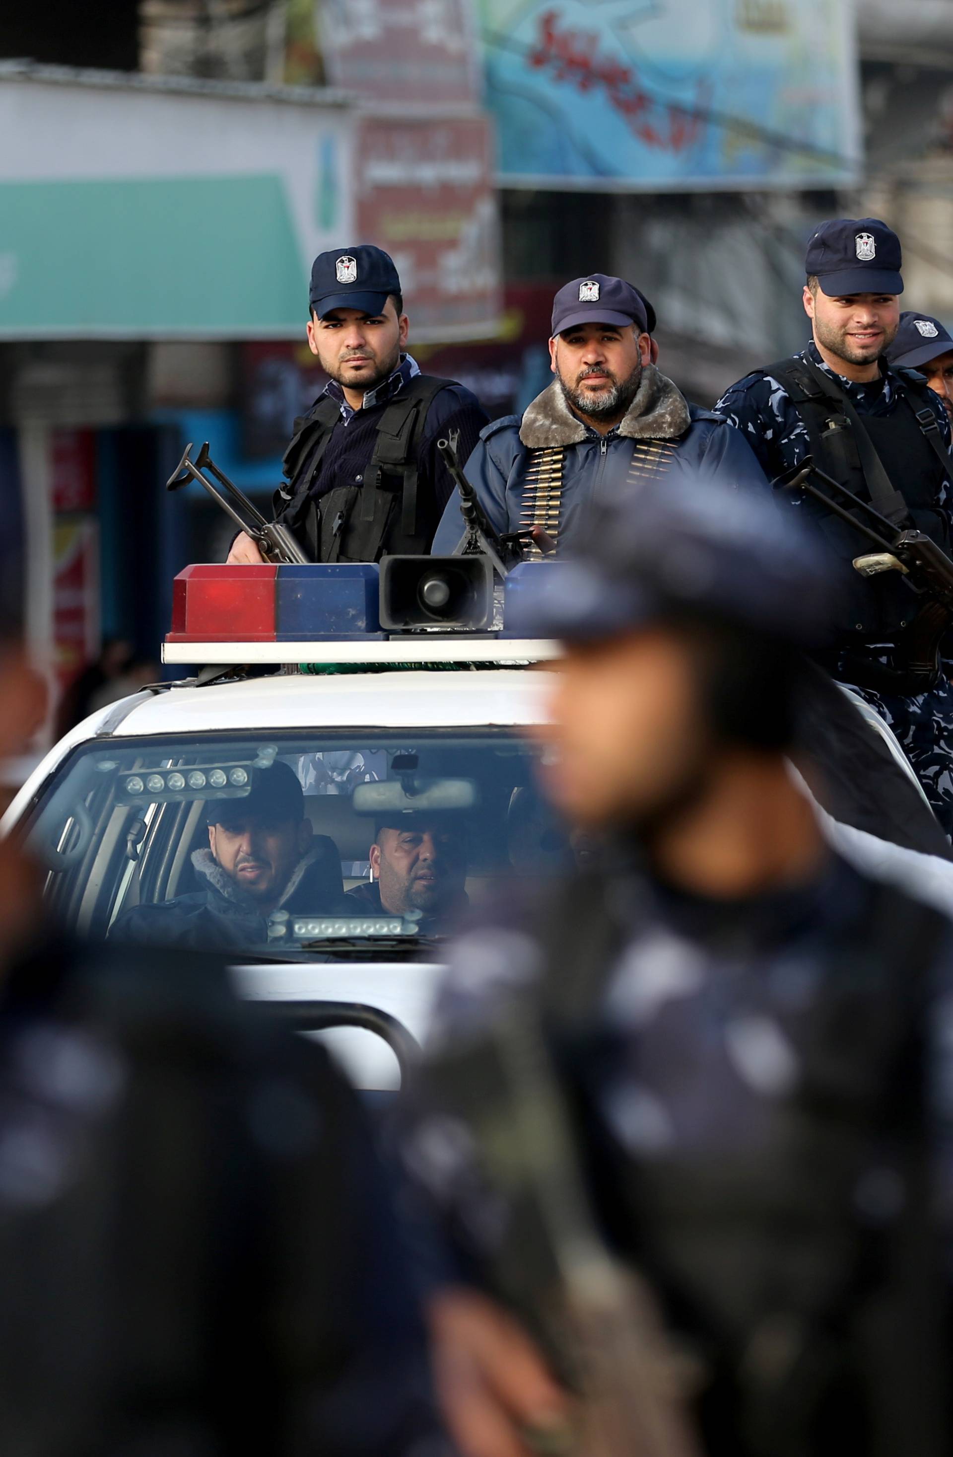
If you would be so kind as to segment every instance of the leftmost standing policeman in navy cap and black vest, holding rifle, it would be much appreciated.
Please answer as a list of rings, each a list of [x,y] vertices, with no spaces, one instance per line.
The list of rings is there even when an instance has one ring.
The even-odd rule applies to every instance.
[[[329,380],[294,421],[274,500],[275,520],[315,561],[427,552],[453,487],[437,440],[452,434],[468,453],[487,423],[462,385],[421,374],[408,334],[388,254],[361,245],[318,255],[307,344]],[[229,561],[261,559],[236,536]]]

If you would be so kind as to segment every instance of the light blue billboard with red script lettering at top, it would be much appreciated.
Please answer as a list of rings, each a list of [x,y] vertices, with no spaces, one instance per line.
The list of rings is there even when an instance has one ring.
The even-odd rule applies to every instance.
[[[500,181],[832,188],[860,175],[852,0],[478,0]]]

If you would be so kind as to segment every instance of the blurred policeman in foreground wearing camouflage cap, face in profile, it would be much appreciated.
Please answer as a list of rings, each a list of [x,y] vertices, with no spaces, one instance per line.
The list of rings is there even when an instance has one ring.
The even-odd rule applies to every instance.
[[[565,644],[545,775],[602,868],[460,940],[407,1139],[456,1254],[431,1307],[450,1425],[466,1457],[940,1457],[953,927],[834,855],[790,775],[828,581],[714,482],[595,526],[519,628]],[[621,1371],[624,1324],[574,1343],[555,1314],[567,1272],[612,1298],[557,1104],[662,1311]],[[613,1394],[615,1441],[576,1445]]]

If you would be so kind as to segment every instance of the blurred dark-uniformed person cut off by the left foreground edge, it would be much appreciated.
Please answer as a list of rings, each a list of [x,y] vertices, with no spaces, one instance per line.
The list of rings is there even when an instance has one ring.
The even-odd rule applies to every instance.
[[[0,756],[42,720],[12,578]],[[423,1451],[423,1329],[353,1091],[223,965],[66,944],[41,889],[0,839],[4,1457]]]

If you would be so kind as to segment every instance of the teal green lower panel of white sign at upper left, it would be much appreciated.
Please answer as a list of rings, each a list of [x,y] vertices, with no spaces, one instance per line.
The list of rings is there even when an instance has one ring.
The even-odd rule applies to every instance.
[[[0,338],[297,338],[278,175],[0,184]]]

